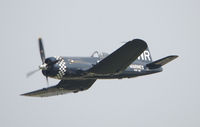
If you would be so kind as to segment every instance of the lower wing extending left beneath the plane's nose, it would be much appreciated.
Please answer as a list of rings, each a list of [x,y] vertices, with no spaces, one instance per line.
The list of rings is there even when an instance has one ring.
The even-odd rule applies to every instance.
[[[22,94],[23,96],[49,97],[89,89],[96,80],[61,80],[58,85]]]

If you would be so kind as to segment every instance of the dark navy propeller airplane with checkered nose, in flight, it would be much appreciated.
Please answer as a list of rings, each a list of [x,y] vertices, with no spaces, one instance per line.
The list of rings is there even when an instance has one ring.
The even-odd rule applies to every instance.
[[[31,97],[50,97],[77,93],[89,89],[97,79],[122,79],[162,72],[162,66],[176,59],[177,55],[152,61],[145,41],[133,39],[111,54],[95,51],[90,57],[45,57],[42,39],[38,39],[42,65],[38,70],[48,77],[61,80],[57,85],[21,94]]]

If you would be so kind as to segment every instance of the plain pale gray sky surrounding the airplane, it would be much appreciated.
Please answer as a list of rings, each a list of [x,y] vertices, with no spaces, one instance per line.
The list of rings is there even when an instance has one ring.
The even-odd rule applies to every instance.
[[[0,0],[0,126],[199,127],[198,0]],[[154,60],[180,57],[164,72],[98,80],[88,91],[50,98],[19,94],[46,87],[26,73],[47,56],[111,53],[141,38]],[[58,83],[50,80],[51,85]]]

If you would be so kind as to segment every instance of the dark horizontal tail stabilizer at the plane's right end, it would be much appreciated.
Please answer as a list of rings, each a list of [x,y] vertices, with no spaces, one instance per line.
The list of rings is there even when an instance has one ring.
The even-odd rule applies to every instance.
[[[147,64],[147,67],[149,67],[150,69],[156,69],[159,68],[167,63],[169,63],[170,61],[176,59],[178,56],[177,55],[171,55],[171,56],[167,56],[165,58],[156,60],[152,63]]]

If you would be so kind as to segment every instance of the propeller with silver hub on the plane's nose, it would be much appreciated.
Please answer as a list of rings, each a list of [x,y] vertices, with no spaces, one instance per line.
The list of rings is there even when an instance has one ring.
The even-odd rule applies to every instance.
[[[40,70],[47,70],[49,65],[56,63],[56,62],[49,63],[49,64],[45,63],[45,52],[44,52],[44,46],[42,43],[42,38],[39,38],[38,42],[39,42],[39,52],[40,52],[40,57],[42,60],[42,65],[39,66],[39,69],[30,71],[29,73],[27,73],[27,75],[26,75],[27,77],[30,77],[31,75],[35,74],[36,72],[38,72]],[[46,82],[47,82],[47,86],[49,86],[48,76],[46,76]]]

